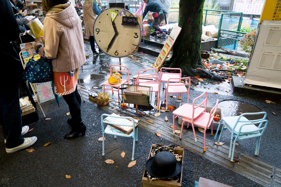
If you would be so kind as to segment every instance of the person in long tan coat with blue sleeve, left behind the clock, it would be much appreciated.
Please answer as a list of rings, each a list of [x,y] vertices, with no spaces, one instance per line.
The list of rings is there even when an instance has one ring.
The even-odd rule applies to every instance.
[[[91,49],[93,51],[93,55],[94,56],[101,55],[103,54],[102,50],[99,48],[99,53],[98,53],[95,49],[93,27],[96,17],[101,11],[102,4],[100,3],[99,0],[86,0],[84,1],[82,8],[83,8],[85,30],[87,36],[90,36],[90,44],[91,44]]]

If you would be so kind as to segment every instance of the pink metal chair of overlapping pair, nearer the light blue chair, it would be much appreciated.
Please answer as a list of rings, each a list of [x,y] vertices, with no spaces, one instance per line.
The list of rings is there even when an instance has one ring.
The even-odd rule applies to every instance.
[[[189,123],[191,123],[192,129],[193,129],[193,133],[194,133],[195,141],[197,141],[197,138],[196,138],[196,134],[195,134],[195,130],[194,130],[194,125],[204,129],[204,151],[206,151],[206,130],[210,127],[210,125],[211,125],[211,135],[213,136],[213,119],[214,119],[215,113],[217,111],[217,104],[218,103],[219,103],[219,100],[217,99],[217,103],[212,108],[210,113],[202,112],[202,114],[199,115],[195,119],[193,117],[194,114],[192,114],[191,120],[188,119],[188,118],[182,118],[183,122],[181,124],[181,131],[182,131],[182,128],[183,128],[185,122],[188,122],[187,127],[189,126]],[[192,103],[192,106],[193,106],[193,113],[194,113],[194,109],[197,106],[194,107],[194,102]]]

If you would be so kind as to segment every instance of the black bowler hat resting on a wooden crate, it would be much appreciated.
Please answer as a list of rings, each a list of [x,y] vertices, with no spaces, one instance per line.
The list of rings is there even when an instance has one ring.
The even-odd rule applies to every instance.
[[[146,171],[157,178],[171,178],[181,172],[181,164],[175,155],[162,151],[146,161]]]

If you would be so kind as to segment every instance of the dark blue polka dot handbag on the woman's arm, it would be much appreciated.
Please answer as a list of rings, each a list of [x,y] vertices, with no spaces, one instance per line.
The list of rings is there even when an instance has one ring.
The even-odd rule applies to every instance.
[[[36,51],[37,53],[37,51]],[[44,56],[45,52],[43,52]],[[23,72],[23,78],[31,83],[49,82],[54,80],[52,71],[52,59],[43,58],[34,60],[29,59]]]

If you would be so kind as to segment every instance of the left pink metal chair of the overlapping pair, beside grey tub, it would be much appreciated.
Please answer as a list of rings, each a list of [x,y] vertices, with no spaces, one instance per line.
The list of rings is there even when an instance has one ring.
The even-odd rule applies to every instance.
[[[203,102],[201,102],[197,106],[194,106],[194,102],[204,95],[206,96],[206,98],[203,100]],[[200,107],[201,105],[203,105],[203,103],[205,103],[204,108]],[[202,93],[200,96],[196,97],[193,100],[192,105],[191,104],[183,104],[179,108],[174,110],[174,112],[173,112],[173,114],[174,114],[173,115],[173,129],[174,129],[174,131],[173,132],[175,133],[175,119],[177,117],[180,116],[180,117],[185,118],[185,119],[194,120],[197,117],[199,117],[203,112],[206,112],[206,106],[207,106],[207,92],[205,91],[204,93]],[[190,123],[190,122],[188,122],[188,123]],[[187,125],[189,125],[189,124],[187,124]],[[193,125],[192,125],[192,128],[193,128],[193,133],[194,133],[194,139],[195,139],[195,141],[197,141]],[[181,139],[182,129],[183,129],[183,124],[181,124],[181,134],[179,136],[179,139]]]

